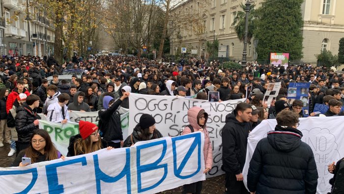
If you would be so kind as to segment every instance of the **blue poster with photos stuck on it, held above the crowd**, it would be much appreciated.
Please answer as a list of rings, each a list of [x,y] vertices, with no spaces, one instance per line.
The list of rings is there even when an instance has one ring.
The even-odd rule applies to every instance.
[[[309,99],[308,90],[311,83],[289,83],[287,100],[291,105],[295,99],[303,102],[302,114],[304,117],[309,116]]]

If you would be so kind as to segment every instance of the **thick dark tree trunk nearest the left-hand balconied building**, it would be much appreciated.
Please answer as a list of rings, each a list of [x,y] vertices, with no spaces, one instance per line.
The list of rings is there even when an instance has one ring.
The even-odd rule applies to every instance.
[[[63,25],[60,22],[60,18],[56,17],[56,29],[55,29],[55,42],[54,42],[54,58],[57,60],[58,65],[62,65],[63,62],[63,45],[62,45],[62,33]]]

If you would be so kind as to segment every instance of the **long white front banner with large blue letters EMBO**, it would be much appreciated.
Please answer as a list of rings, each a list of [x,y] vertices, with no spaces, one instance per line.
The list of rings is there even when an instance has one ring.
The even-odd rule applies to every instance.
[[[102,149],[65,161],[0,168],[0,193],[154,194],[205,180],[204,134]]]

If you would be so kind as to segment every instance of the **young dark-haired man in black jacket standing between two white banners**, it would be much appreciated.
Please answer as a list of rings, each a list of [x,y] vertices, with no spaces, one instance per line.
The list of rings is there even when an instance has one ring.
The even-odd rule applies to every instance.
[[[246,161],[247,137],[252,130],[251,117],[252,107],[246,102],[237,104],[233,112],[226,116],[221,135],[227,194],[248,193],[243,183],[242,171]]]

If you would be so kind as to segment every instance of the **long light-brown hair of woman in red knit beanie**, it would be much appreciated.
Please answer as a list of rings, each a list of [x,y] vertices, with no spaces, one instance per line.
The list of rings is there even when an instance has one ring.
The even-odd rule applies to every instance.
[[[95,152],[101,149],[102,140],[98,137],[98,141],[92,142],[91,135],[89,135],[86,139],[80,138],[77,139],[74,143],[74,153],[75,156],[81,154],[88,154],[91,152]]]

